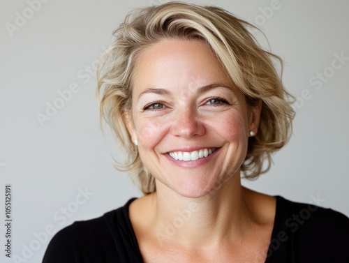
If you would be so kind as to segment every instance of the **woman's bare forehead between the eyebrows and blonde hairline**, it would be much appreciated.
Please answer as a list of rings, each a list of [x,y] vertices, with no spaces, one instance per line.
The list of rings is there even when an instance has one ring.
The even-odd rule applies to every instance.
[[[216,55],[202,40],[162,40],[142,51],[133,75],[134,92],[142,89],[195,88],[211,82],[231,85]]]

